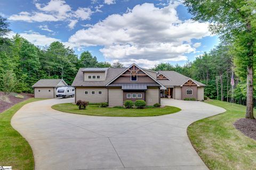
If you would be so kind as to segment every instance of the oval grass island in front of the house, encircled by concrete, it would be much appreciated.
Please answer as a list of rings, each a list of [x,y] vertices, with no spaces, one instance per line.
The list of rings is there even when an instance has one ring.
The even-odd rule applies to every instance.
[[[163,108],[145,109],[124,109],[124,108],[100,108],[97,105],[89,105],[85,110],[79,110],[76,104],[62,103],[52,106],[53,109],[68,112],[71,114],[90,115],[90,116],[114,116],[114,117],[141,117],[159,116],[173,114],[180,111],[180,108],[166,106]]]

